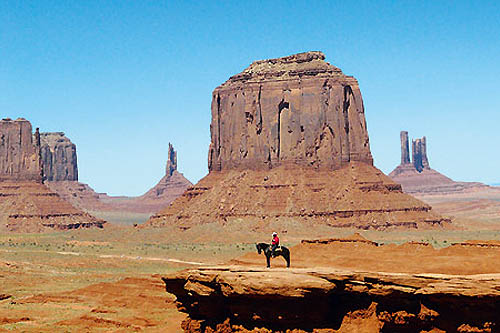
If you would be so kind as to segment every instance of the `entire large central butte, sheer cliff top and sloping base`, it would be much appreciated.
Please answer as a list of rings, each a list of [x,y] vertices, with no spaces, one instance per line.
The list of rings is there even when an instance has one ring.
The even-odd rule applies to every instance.
[[[373,167],[358,82],[324,59],[256,61],[217,87],[209,174],[146,226],[310,236],[447,222]]]

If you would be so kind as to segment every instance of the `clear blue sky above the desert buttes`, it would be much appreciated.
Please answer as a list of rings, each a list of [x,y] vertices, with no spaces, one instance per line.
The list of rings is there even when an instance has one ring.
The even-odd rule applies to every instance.
[[[437,171],[500,182],[498,1],[5,0],[0,117],[65,132],[80,181],[140,195],[169,142],[189,180],[207,174],[215,87],[311,50],[358,79],[376,167],[407,130]]]

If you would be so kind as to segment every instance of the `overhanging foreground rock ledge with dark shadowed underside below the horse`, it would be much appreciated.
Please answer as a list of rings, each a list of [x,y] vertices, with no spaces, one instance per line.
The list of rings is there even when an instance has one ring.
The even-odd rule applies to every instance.
[[[420,332],[500,324],[500,274],[460,276],[333,268],[208,267],[163,278],[185,332]],[[357,321],[357,322],[356,322]],[[350,329],[350,330],[349,330]],[[469,331],[479,332],[479,331]]]

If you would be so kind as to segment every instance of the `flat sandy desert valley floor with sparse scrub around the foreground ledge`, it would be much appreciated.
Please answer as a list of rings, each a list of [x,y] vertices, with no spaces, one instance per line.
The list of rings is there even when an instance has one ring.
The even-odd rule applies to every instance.
[[[453,228],[389,232],[332,228],[322,229],[314,238],[348,238],[358,232],[380,244],[412,241],[428,243],[436,249],[446,249],[467,240],[500,241],[500,195],[495,192],[434,196],[424,200],[443,214],[456,217]],[[211,228],[185,232],[112,224],[104,229],[2,234],[0,331],[52,332],[58,327],[68,332],[180,332],[186,315],[177,310],[175,296],[165,292],[163,276],[213,265],[265,267],[265,258],[257,256],[254,242],[267,240],[267,234],[252,234],[247,239],[237,234],[224,241],[217,237],[217,232],[214,223]],[[297,250],[297,247],[293,250],[294,246],[301,246],[301,238],[291,234],[282,238],[286,246],[292,247],[292,268],[307,267],[305,250]],[[208,239],[219,240],[207,242]],[[401,259],[388,257],[383,251],[361,249],[359,253],[364,259],[351,260],[348,253],[357,253],[355,251],[355,248],[344,249],[328,265],[352,272],[376,272],[381,270],[376,264],[379,260],[391,262],[391,267],[384,269],[387,270],[398,267],[397,262]],[[433,257],[426,251],[429,250],[421,252],[422,258]],[[450,270],[451,266],[468,262],[467,253],[442,252],[441,260],[446,261],[447,256],[454,259],[452,264],[445,265],[447,271],[441,273],[477,274],[481,269],[489,274],[500,273],[498,265],[491,266],[485,259],[482,266],[478,258],[474,259],[478,262],[473,261],[476,266],[471,264],[472,267],[463,268],[464,272]],[[499,258],[498,251],[492,255],[493,259]],[[284,262],[273,259],[272,265],[271,271],[283,270]],[[321,264],[316,263],[316,266]],[[428,273],[436,272],[431,267],[423,267],[429,270]]]

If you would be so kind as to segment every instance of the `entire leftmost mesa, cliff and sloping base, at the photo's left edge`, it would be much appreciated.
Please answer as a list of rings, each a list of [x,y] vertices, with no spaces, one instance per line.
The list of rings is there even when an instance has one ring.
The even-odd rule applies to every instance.
[[[0,230],[100,227],[105,221],[73,207],[42,184],[41,135],[23,118],[0,121]]]

